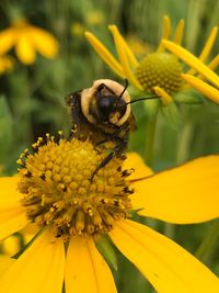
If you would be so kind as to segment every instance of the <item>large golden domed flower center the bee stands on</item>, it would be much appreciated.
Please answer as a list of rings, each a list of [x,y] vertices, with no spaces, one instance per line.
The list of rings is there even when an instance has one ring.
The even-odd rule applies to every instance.
[[[19,164],[19,191],[26,215],[39,227],[50,225],[56,237],[108,233],[116,219],[126,218],[132,193],[122,170],[123,159],[113,158],[92,178],[105,153],[97,153],[91,142],[65,140],[47,136],[25,150]],[[92,180],[91,180],[92,178]]]

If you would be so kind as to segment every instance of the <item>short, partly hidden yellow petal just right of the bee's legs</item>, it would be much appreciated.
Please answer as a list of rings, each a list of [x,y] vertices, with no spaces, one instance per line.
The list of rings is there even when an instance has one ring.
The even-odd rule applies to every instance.
[[[143,159],[137,153],[128,153],[127,159],[123,165],[124,170],[134,169],[128,180],[135,181],[151,176],[153,171],[143,162]]]

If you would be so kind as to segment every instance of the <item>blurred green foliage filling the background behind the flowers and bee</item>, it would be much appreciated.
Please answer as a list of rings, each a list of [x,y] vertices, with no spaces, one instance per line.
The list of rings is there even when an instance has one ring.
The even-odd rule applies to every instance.
[[[107,30],[107,24],[112,23],[117,24],[125,36],[135,36],[149,48],[155,48],[162,33],[162,16],[169,14],[174,27],[180,19],[185,19],[183,44],[198,54],[210,29],[219,22],[218,0],[3,0],[0,2],[0,30],[10,25],[14,9],[32,24],[53,33],[60,49],[54,60],[37,56],[32,66],[22,65],[13,50],[10,52],[14,69],[0,76],[2,174],[15,172],[19,154],[38,136],[47,132],[56,134],[58,129],[69,132],[70,113],[64,99],[69,92],[90,87],[99,78],[117,79],[87,43],[83,36],[85,30],[95,33],[112,52],[113,42]],[[218,47],[219,40],[211,57],[218,54]],[[172,127],[159,115],[153,154],[155,170],[219,151],[219,108],[203,100],[200,104],[180,105],[181,123],[177,127]],[[146,109],[135,104],[134,113],[138,131],[131,134],[129,148],[145,156]],[[174,115],[172,122],[176,119]],[[211,223],[205,223],[176,227],[154,221],[148,224],[174,238],[193,253],[211,226]],[[208,253],[200,257],[215,272],[219,272],[217,245],[209,247]],[[116,280],[119,292],[152,292],[147,281],[122,256]]]

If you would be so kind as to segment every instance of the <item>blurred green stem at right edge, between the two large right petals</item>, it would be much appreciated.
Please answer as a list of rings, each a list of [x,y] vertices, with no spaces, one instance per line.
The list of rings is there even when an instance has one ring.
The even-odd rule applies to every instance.
[[[195,256],[201,260],[207,262],[210,255],[214,251],[214,246],[219,237],[219,219],[216,219],[210,229],[208,235],[203,239],[203,243],[199,245]]]

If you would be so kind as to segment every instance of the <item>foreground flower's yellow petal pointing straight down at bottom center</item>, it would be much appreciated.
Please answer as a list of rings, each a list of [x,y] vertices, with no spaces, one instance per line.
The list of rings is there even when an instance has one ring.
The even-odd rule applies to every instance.
[[[72,237],[66,263],[66,293],[116,293],[112,272],[92,238]]]

